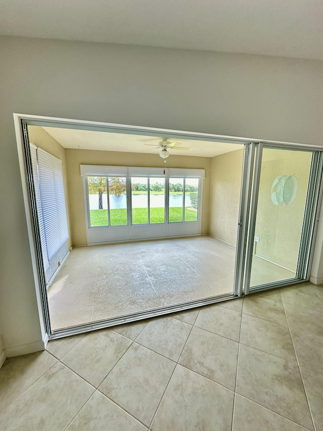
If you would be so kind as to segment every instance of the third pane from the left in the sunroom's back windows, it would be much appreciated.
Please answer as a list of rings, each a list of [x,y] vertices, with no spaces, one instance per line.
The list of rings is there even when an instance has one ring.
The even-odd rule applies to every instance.
[[[132,224],[148,223],[147,184],[147,178],[131,178]]]

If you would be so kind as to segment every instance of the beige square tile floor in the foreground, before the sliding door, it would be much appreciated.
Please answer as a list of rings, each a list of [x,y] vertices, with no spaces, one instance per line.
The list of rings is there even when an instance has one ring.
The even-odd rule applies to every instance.
[[[48,343],[0,370],[6,431],[320,431],[323,286]]]

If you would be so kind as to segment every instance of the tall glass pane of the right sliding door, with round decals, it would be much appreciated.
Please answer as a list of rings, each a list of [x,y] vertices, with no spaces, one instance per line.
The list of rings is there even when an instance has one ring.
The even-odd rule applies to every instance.
[[[296,277],[312,153],[264,148],[250,286]]]

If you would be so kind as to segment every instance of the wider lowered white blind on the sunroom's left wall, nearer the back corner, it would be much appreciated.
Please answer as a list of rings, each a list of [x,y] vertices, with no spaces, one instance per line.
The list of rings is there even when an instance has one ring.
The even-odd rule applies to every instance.
[[[48,259],[69,238],[62,161],[37,149],[39,186]]]

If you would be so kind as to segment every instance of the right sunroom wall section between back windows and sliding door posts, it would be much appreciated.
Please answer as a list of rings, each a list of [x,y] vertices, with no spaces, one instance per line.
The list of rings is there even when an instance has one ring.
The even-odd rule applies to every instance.
[[[234,246],[237,244],[242,162],[243,149],[211,159],[209,234]]]

